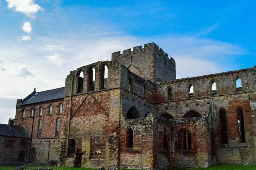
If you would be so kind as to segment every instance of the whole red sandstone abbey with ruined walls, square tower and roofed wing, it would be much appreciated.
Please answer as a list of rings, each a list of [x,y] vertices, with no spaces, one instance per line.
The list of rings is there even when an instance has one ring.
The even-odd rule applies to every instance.
[[[65,87],[34,90],[1,124],[0,162],[150,170],[255,163],[256,66],[183,79],[175,67],[148,43],[70,71]]]

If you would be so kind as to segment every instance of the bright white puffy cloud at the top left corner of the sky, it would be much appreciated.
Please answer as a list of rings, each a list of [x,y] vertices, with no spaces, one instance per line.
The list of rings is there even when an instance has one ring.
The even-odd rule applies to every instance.
[[[34,0],[6,0],[8,8],[21,12],[28,17],[35,18],[35,14],[39,10],[43,10],[41,6],[34,3]]]

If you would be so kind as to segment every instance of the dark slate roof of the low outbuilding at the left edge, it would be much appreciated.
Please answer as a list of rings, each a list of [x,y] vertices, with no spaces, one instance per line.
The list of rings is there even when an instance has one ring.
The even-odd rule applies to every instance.
[[[0,124],[0,136],[13,136],[30,138],[28,131],[23,126]]]

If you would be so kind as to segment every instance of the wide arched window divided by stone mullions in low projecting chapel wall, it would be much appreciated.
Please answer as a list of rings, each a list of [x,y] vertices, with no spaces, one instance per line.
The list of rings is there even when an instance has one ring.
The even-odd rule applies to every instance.
[[[188,130],[181,130],[178,133],[178,150],[192,150],[191,133]]]

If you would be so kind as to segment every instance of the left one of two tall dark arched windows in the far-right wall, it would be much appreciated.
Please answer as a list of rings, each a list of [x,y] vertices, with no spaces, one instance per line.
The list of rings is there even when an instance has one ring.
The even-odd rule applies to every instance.
[[[228,144],[228,130],[227,130],[227,113],[224,109],[220,110],[220,138],[221,144]]]

